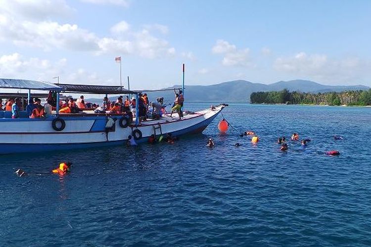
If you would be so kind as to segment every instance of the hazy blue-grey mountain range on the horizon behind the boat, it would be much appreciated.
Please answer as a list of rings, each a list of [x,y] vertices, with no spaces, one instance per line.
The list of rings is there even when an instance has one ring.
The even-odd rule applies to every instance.
[[[181,87],[174,85],[170,88]],[[368,90],[364,85],[355,86],[330,86],[312,81],[294,80],[280,81],[272,84],[253,83],[243,80],[222,82],[219,84],[201,86],[185,85],[186,102],[214,102],[214,103],[248,103],[250,94],[257,91],[278,91],[287,88],[290,91],[301,92],[341,92],[344,90]],[[148,92],[149,100],[164,97],[165,102],[174,100],[174,91]],[[89,100],[89,99],[88,99]],[[93,101],[93,99],[90,99]],[[94,99],[95,100],[95,99]],[[101,100],[97,101],[100,102]],[[94,101],[95,102],[95,101]]]

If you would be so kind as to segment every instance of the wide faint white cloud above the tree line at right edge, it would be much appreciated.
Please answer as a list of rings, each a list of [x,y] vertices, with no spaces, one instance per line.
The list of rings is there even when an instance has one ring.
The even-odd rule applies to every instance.
[[[369,62],[354,58],[331,59],[324,54],[299,52],[293,56],[279,57],[274,69],[290,75],[313,78],[323,82],[349,82],[370,74]]]

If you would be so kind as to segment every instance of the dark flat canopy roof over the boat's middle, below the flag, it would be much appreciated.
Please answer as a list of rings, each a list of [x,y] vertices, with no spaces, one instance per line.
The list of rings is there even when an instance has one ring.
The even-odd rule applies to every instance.
[[[122,86],[101,86],[101,85],[78,85],[78,84],[58,84],[64,92],[80,92],[93,94],[129,94],[137,93],[125,89]]]

